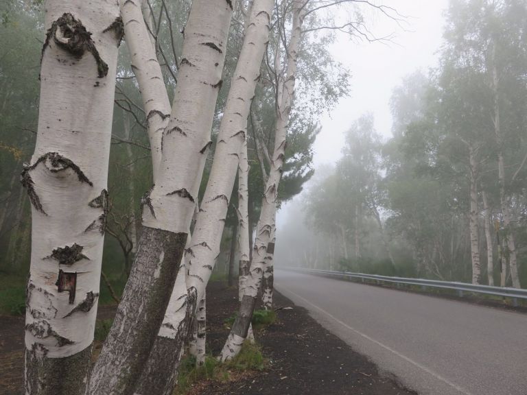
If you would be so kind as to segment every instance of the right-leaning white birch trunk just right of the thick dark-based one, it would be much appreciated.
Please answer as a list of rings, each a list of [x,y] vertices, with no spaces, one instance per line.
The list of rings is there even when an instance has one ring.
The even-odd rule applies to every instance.
[[[188,286],[204,292],[220,253],[220,241],[227,208],[236,177],[239,153],[246,139],[250,102],[255,94],[261,60],[270,29],[272,0],[255,0],[250,14],[242,51],[231,80],[231,89],[220,124],[214,161],[196,220],[191,248],[187,250]]]

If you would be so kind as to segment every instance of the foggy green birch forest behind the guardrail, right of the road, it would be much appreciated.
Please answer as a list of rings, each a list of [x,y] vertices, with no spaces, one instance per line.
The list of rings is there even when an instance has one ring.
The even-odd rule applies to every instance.
[[[278,231],[277,264],[526,286],[527,13],[485,3],[452,1],[438,67],[392,93],[392,137],[371,113],[349,127]]]

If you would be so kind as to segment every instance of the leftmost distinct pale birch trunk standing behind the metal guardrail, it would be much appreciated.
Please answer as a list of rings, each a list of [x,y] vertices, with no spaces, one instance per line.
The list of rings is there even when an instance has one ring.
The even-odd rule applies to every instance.
[[[469,178],[470,178],[470,211],[469,211],[469,230],[470,230],[470,250],[472,263],[472,284],[481,283],[481,263],[480,263],[480,240],[478,229],[478,187],[476,154],[472,146],[469,146]]]

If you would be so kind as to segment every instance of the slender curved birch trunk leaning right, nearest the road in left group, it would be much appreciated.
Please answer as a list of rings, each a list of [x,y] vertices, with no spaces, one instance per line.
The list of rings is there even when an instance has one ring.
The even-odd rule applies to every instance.
[[[285,157],[285,138],[294,96],[296,60],[298,58],[298,45],[301,38],[301,12],[302,2],[300,0],[294,0],[292,31],[287,50],[286,77],[283,82],[281,102],[277,106],[277,123],[274,129],[274,152],[261,204],[260,219],[257,225],[255,246],[253,248],[253,259],[250,264],[250,273],[244,296],[242,302],[240,302],[239,313],[220,356],[222,361],[235,357],[239,350],[241,350],[244,339],[247,336],[250,321],[253,317],[255,302],[261,285],[261,276],[271,237],[272,219],[276,212],[281,168]]]

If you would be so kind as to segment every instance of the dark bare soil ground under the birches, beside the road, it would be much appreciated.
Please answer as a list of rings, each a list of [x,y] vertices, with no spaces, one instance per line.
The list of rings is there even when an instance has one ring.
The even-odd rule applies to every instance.
[[[233,374],[226,383],[201,383],[194,395],[409,395],[414,394],[382,376],[368,359],[326,331],[302,307],[275,293],[278,320],[256,333],[267,368]],[[292,309],[283,309],[292,307]],[[237,290],[222,283],[207,288],[207,347],[217,355],[229,328],[224,320],[237,309]],[[99,309],[111,317],[115,307]],[[23,383],[23,318],[0,316],[0,394],[21,394]],[[155,394],[152,394],[155,395]]]

